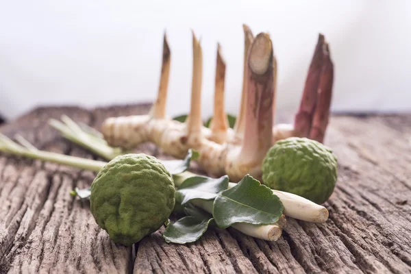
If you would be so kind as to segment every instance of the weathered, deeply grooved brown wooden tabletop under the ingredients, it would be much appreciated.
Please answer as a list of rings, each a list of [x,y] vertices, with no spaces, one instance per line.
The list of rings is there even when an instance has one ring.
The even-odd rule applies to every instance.
[[[148,105],[84,110],[38,108],[0,132],[39,149],[93,156],[47,125],[68,114],[99,127],[108,116]],[[0,273],[411,273],[411,114],[332,116],[325,144],[338,157],[338,182],[324,224],[287,218],[266,242],[235,229],[209,229],[198,242],[167,244],[162,229],[134,247],[115,245],[75,187],[95,174],[0,153]],[[162,157],[151,144],[138,150]]]

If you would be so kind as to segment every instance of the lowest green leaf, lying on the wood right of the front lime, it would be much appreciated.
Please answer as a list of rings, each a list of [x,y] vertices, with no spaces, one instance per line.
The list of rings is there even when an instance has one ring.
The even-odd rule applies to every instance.
[[[185,216],[175,223],[169,224],[162,236],[166,242],[176,244],[195,242],[206,232],[211,221],[212,219],[201,220],[194,216]]]

